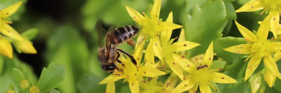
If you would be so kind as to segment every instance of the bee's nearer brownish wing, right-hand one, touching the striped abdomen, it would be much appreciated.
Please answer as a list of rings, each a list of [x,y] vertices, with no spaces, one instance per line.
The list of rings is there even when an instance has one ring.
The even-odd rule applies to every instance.
[[[110,28],[107,31],[107,35],[106,35],[106,49],[107,49],[107,56],[109,57],[109,51],[111,48],[111,42],[114,40],[114,26],[110,26]]]

